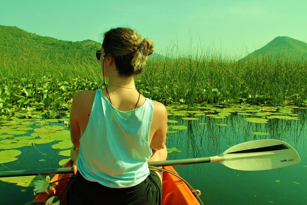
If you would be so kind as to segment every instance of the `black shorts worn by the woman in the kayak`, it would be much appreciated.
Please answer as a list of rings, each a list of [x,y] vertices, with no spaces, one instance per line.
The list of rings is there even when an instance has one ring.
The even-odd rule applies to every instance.
[[[157,205],[162,201],[161,180],[152,170],[143,182],[127,188],[110,188],[88,181],[79,171],[72,180],[67,190],[68,205]]]

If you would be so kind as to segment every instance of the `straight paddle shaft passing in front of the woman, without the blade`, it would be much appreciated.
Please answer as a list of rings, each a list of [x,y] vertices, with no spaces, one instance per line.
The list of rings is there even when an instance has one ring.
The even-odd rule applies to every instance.
[[[208,163],[210,162],[210,157],[200,157],[182,160],[166,160],[166,161],[156,161],[148,162],[148,166],[162,167],[162,166],[175,166],[183,164],[198,164],[198,163]],[[51,175],[51,174],[65,174],[73,173],[73,168],[49,168],[49,169],[29,169],[29,170],[16,170],[16,171],[0,171],[0,177],[13,177],[13,176],[32,176],[32,175]]]

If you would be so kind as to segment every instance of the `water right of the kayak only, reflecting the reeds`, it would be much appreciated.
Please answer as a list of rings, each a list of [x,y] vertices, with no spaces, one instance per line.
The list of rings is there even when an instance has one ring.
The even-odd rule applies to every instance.
[[[228,147],[245,141],[282,140],[297,150],[301,156],[302,162],[300,164],[276,170],[249,172],[232,170],[215,163],[177,166],[175,168],[194,188],[205,192],[201,198],[208,204],[263,204],[268,202],[267,198],[269,197],[272,198],[270,201],[274,201],[276,204],[303,204],[307,200],[305,195],[301,195],[305,192],[305,185],[307,184],[307,177],[303,174],[306,171],[306,167],[304,167],[306,164],[304,163],[307,160],[305,154],[307,118],[305,110],[297,109],[294,110],[294,113],[299,114],[299,120],[270,119],[266,124],[247,122],[244,120],[246,116],[241,115],[231,115],[224,119],[200,116],[199,120],[191,121],[182,120],[180,116],[171,116],[170,119],[178,121],[176,125],[186,125],[188,129],[167,135],[167,146],[169,148],[177,147],[182,151],[169,153],[168,159],[215,156],[224,152]],[[218,126],[217,123],[227,124],[227,126]],[[254,135],[251,132],[266,132],[269,135]],[[296,173],[296,175],[293,175],[293,173]],[[221,179],[224,182],[221,182]],[[300,184],[296,184],[295,187],[293,181],[298,181]],[[220,183],[223,183],[223,186],[230,187],[234,184],[240,185],[236,187],[236,191],[240,195],[246,195],[246,197],[242,197],[238,201],[238,198],[234,198],[231,192],[218,194],[216,190],[220,189],[220,185],[218,185]],[[253,186],[251,187],[253,188],[246,187],[246,183],[252,183]],[[254,189],[263,189],[258,192],[266,193],[268,197],[266,195],[258,197],[259,193],[252,194],[255,192]],[[293,192],[293,189],[296,191]],[[258,198],[256,199],[254,195]],[[221,200],[220,197],[222,196],[225,197],[225,200],[227,199],[227,202],[216,203]],[[291,198],[295,201],[291,201]]]

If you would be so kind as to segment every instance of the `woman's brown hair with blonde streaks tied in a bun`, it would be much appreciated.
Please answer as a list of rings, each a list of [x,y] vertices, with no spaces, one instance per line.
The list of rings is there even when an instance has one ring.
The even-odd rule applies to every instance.
[[[147,56],[154,51],[153,43],[129,28],[115,28],[104,33],[102,47],[114,57],[119,75],[130,76],[142,72]]]

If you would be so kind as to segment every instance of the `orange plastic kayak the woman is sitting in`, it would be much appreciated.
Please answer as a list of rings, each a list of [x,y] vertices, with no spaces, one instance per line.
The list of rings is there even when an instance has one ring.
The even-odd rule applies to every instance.
[[[72,161],[68,161],[64,167],[72,167]],[[178,174],[172,166],[163,167],[169,171]],[[70,174],[56,174],[50,181],[56,181],[69,177]],[[52,190],[47,193],[39,193],[33,200],[32,205],[43,205],[46,200],[52,196],[58,196],[62,193],[65,187],[68,185],[68,179],[57,183],[56,186],[52,187]],[[163,172],[163,194],[162,194],[162,205],[199,205],[196,197],[192,194],[188,186],[176,176]],[[63,199],[61,199],[63,200]],[[66,205],[66,199],[64,199],[63,205]]]

